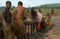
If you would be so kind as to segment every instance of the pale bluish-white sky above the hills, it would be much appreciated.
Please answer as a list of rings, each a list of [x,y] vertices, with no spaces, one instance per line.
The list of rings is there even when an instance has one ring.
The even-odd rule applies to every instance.
[[[0,0],[0,6],[5,6],[6,1],[11,1],[12,6],[17,6],[18,1],[23,2],[24,7],[33,7],[44,4],[60,3],[60,0]]]

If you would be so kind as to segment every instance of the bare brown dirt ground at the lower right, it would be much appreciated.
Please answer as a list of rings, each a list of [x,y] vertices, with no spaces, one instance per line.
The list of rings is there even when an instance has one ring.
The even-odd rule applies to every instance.
[[[51,22],[55,26],[50,31],[46,34],[38,32],[34,35],[29,35],[29,39],[60,39],[60,16],[52,17]]]

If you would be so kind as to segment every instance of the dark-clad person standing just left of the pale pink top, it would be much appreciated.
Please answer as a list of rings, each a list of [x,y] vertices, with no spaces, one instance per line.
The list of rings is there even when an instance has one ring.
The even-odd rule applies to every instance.
[[[35,30],[35,27],[37,24],[37,12],[34,9],[31,9],[30,15],[31,15],[31,19],[33,21],[33,26],[31,26],[31,29],[32,29],[31,33],[34,33],[34,30]]]

